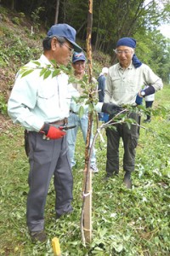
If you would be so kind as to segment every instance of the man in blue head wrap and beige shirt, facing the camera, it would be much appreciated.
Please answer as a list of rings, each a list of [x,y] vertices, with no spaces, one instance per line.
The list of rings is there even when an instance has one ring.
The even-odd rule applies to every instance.
[[[134,38],[121,38],[116,43],[116,57],[118,63],[109,68],[105,84],[105,102],[111,102],[118,106],[136,106],[136,96],[140,98],[161,90],[161,79],[135,55],[136,40]],[[142,90],[144,85],[149,85]],[[105,109],[104,109],[105,110]],[[139,113],[129,113],[129,118],[135,119],[139,124]],[[127,124],[115,125],[116,130],[108,128],[107,136],[107,180],[119,173],[119,143],[122,137],[124,154],[123,170],[124,183],[128,189],[132,188],[131,173],[135,165],[135,148],[139,139],[139,125],[133,124],[131,128]]]

